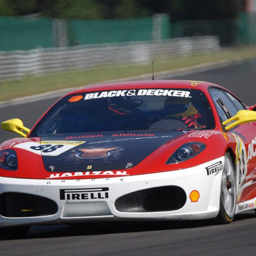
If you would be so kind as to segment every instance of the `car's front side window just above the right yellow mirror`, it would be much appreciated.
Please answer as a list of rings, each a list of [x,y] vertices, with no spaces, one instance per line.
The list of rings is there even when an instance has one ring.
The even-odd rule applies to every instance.
[[[235,116],[235,114],[238,112],[238,109],[231,102],[231,98],[228,98],[228,96],[225,95],[224,91],[212,89],[210,90],[210,95],[213,98],[214,105],[222,121],[225,121],[232,116]]]

